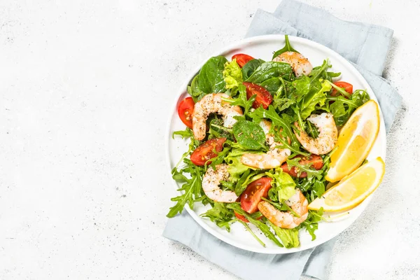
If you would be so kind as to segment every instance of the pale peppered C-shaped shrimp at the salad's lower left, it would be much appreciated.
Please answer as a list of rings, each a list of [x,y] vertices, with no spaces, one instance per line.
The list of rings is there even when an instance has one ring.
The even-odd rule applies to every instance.
[[[238,196],[232,190],[221,190],[221,181],[229,179],[228,165],[216,165],[216,170],[209,167],[204,174],[202,188],[209,199],[215,202],[235,202]]]

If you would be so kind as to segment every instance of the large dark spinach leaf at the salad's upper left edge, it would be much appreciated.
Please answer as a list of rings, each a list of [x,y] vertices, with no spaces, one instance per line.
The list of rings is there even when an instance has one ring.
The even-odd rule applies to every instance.
[[[202,66],[198,78],[198,87],[202,92],[225,92],[225,80],[223,79],[223,70],[228,59],[223,56],[211,57]]]

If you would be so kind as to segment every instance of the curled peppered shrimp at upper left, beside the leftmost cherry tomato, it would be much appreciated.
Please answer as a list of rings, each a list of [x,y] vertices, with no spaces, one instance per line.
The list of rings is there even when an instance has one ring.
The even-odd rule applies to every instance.
[[[206,120],[210,113],[218,113],[222,115],[225,127],[232,127],[237,120],[235,116],[242,116],[242,110],[239,106],[231,106],[227,102],[222,101],[223,98],[230,98],[228,94],[211,93],[205,95],[194,106],[193,113],[193,132],[197,140],[206,137]]]

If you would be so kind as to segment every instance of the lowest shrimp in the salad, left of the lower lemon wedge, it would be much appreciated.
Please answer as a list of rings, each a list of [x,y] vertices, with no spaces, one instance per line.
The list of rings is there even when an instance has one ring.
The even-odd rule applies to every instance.
[[[286,201],[286,204],[298,216],[295,216],[291,211],[279,211],[265,201],[258,203],[258,210],[279,228],[296,228],[308,217],[308,201],[300,190],[295,190],[295,194]]]

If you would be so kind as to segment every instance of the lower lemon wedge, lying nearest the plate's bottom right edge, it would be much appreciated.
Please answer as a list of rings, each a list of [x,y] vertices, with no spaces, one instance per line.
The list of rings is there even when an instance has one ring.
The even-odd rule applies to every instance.
[[[344,211],[363,202],[379,186],[385,174],[385,163],[381,158],[367,162],[355,172],[346,176],[337,185],[327,190],[308,208],[324,211]]]

